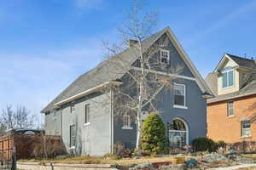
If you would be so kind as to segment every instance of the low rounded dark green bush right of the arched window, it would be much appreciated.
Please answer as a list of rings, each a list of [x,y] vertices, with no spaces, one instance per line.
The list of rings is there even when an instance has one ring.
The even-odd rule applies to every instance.
[[[216,144],[212,139],[198,138],[192,141],[192,147],[195,152],[197,151],[212,152],[218,149],[218,144]]]

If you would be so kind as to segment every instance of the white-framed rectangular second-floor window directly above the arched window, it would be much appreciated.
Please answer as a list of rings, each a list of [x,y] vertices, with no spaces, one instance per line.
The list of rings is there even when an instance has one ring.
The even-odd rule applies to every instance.
[[[185,106],[185,85],[174,84],[174,105]]]

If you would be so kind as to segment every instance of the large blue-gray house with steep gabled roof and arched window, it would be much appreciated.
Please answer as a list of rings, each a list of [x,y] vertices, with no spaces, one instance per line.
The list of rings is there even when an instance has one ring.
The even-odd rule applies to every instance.
[[[207,97],[211,96],[211,90],[170,28],[146,38],[142,42],[143,52],[146,53],[149,47],[163,39],[168,43],[156,53],[156,59],[167,65],[183,65],[183,71],[179,75],[159,71],[166,77],[176,79],[172,90],[160,92],[161,102],[157,109],[168,128],[171,146],[182,147],[191,144],[195,138],[207,135]],[[131,45],[119,54],[119,58],[134,69],[137,57],[131,54],[132,50]],[[114,144],[119,142],[126,148],[135,147],[135,119],[128,115],[120,119],[114,107],[114,91],[112,88],[102,90],[111,86],[123,88],[129,78],[110,62],[111,59],[116,57],[84,73],[42,111],[45,113],[45,133],[61,135],[67,150],[73,150],[78,155],[103,156],[112,153]],[[135,89],[130,90],[131,93],[136,92]],[[143,116],[147,116],[147,111]]]

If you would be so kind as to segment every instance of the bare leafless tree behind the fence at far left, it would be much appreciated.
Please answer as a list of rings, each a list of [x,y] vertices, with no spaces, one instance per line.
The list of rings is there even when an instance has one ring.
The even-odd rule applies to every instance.
[[[36,126],[36,116],[24,106],[17,106],[13,110],[12,105],[7,105],[0,113],[0,128],[2,132],[10,128],[32,128]]]

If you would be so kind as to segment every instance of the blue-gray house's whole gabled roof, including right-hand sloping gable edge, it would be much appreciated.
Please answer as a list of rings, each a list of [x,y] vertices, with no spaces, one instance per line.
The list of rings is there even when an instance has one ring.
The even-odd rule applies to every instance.
[[[196,82],[201,88],[203,93],[212,94],[210,88],[207,87],[206,82],[204,82],[203,78],[196,70],[195,65],[191,62],[187,54],[185,54],[183,48],[177,42],[177,38],[173,35],[171,29],[166,27],[165,29],[156,32],[152,36],[146,38],[142,42],[143,52],[145,52],[154,42],[156,42],[162,35],[164,34],[169,35],[173,45],[177,48],[177,51],[183,58],[183,61],[186,65],[188,65],[190,71],[196,78]],[[47,105],[43,111],[43,113],[52,110],[55,108],[55,104],[61,102],[62,100],[71,98],[74,95],[83,93],[90,88],[95,88],[96,86],[104,83],[117,80],[125,74],[124,68],[129,68],[129,66],[136,61],[137,59],[137,49],[136,48],[127,48],[125,51],[121,52],[120,54],[114,55],[109,59],[102,61],[96,68],[92,69],[81,75],[77,78],[71,85],[69,85],[61,94],[59,94],[53,101]],[[123,60],[122,64],[125,63],[125,67],[123,65],[118,65],[117,63],[119,60]]]

